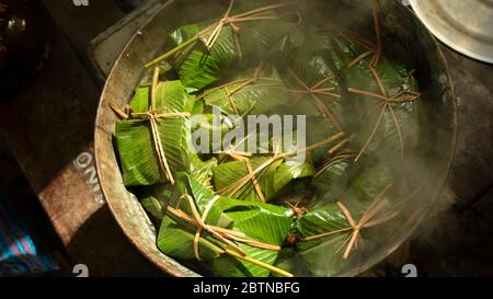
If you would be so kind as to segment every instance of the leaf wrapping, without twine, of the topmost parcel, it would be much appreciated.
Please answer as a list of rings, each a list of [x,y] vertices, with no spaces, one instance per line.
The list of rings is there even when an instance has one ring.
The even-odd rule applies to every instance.
[[[278,14],[267,11],[262,16],[276,18]],[[220,78],[226,78],[228,72],[225,70],[234,62],[252,67],[267,58],[270,54],[275,53],[275,47],[279,47],[293,30],[293,25],[283,20],[242,21],[233,23],[238,33],[234,33],[231,25],[223,25],[216,42],[210,45],[216,24],[218,24],[217,20],[190,24],[171,34],[171,39],[176,46],[194,41],[198,36],[175,59],[175,69],[190,93],[203,90]],[[204,32],[206,28],[209,30]],[[207,44],[211,46],[210,49],[207,49]]]

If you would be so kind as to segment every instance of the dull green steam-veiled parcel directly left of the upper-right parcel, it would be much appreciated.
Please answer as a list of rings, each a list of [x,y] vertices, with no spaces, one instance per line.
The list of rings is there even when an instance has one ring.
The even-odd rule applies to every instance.
[[[295,101],[289,110],[307,115],[308,145],[325,140],[344,129],[344,97],[337,73],[331,65],[330,37],[325,31],[312,31],[303,44],[284,55],[278,62]],[[309,93],[307,88],[313,92]],[[316,165],[324,160],[333,146],[335,143],[326,145],[311,153]]]

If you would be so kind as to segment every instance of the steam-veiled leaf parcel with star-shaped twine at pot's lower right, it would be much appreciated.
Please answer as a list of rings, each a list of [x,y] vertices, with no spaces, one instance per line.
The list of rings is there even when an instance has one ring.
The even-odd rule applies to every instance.
[[[372,175],[381,169],[382,174]],[[389,171],[386,165],[376,165],[355,176],[337,197],[328,194],[307,207],[297,221],[297,251],[313,275],[332,276],[360,258],[358,246],[368,250],[372,245],[371,238],[365,235],[399,215]]]

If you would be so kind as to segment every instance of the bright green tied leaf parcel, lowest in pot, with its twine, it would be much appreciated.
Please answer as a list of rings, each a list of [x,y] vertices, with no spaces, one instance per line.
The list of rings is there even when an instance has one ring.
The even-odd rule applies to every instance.
[[[220,197],[191,175],[179,177],[158,237],[164,253],[223,276],[285,274],[273,265],[293,222],[288,208]]]

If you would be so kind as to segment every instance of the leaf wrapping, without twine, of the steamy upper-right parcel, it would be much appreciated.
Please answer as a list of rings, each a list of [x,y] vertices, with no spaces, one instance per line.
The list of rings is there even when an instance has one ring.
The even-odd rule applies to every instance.
[[[403,99],[419,90],[411,70],[401,64],[383,61],[375,67],[375,71],[389,99]],[[353,68],[345,71],[345,77],[347,85],[358,92],[381,94],[368,69]],[[347,111],[353,115],[354,145],[358,149],[366,145],[367,153],[382,159],[413,152],[420,141],[422,103],[419,100],[417,95],[409,102],[388,102],[353,92],[352,101],[347,101]]]

